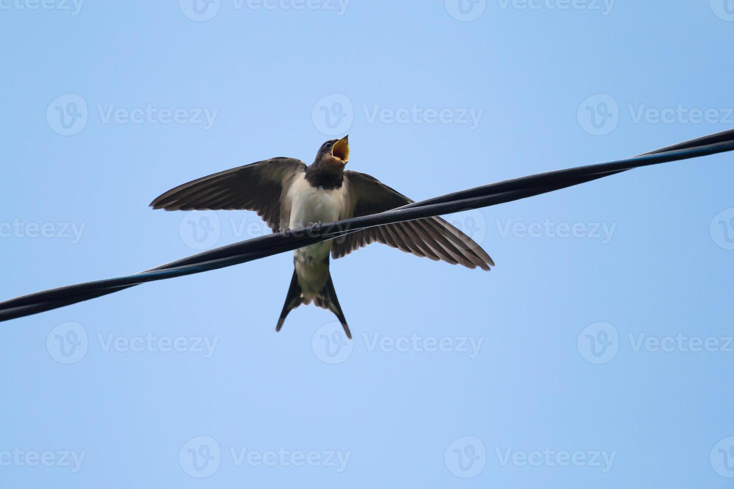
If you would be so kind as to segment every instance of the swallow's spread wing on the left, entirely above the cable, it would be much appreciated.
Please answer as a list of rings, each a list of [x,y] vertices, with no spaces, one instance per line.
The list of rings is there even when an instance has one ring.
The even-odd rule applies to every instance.
[[[165,210],[255,210],[277,231],[288,223],[281,202],[291,181],[306,164],[296,158],[272,158],[211,174],[172,188],[150,203]]]

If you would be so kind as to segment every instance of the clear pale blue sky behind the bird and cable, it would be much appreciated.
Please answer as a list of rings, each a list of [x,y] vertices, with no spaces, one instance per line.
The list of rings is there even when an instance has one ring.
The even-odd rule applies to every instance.
[[[196,1],[196,3],[195,3]],[[1,298],[266,232],[172,186],[349,133],[413,199],[734,127],[730,0],[0,0]],[[177,4],[178,3],[178,4]],[[732,155],[4,323],[0,486],[731,487]]]

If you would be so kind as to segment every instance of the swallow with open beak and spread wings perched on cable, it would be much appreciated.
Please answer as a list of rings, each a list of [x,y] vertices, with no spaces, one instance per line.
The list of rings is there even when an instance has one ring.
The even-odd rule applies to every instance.
[[[238,166],[178,185],[154,199],[150,207],[253,210],[273,232],[286,232],[413,203],[375,177],[345,170],[347,163],[349,135],[321,144],[310,165],[297,158],[278,157]],[[495,266],[478,243],[439,217],[360,229],[294,250],[293,276],[275,331],[283,328],[291,310],[313,302],[333,312],[351,339],[329,262],[330,258],[344,257],[373,242],[468,268],[489,271]]]

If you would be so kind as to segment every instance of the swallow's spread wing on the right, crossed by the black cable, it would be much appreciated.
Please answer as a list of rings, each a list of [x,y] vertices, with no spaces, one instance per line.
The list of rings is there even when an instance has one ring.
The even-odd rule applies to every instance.
[[[340,218],[368,216],[384,212],[413,201],[399,194],[374,177],[359,172],[344,172],[346,205]],[[373,241],[413,253],[431,260],[489,270],[495,263],[479,244],[442,218],[387,224],[352,232],[333,242],[332,256],[344,257]]]

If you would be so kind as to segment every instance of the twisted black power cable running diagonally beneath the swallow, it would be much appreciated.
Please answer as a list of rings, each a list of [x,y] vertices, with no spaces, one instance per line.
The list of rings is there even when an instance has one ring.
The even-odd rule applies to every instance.
[[[273,254],[319,243],[320,241],[339,238],[349,234],[349,232],[367,227],[413,221],[479,207],[489,207],[590,182],[641,166],[698,158],[732,150],[734,150],[734,130],[727,130],[647,152],[633,158],[505,180],[504,182],[433,197],[432,199],[415,202],[371,216],[349,218],[334,223],[319,224],[285,233],[261,236],[204,251],[192,257],[160,265],[134,275],[59,287],[10,299],[0,303],[0,321],[76,304],[145,282],[172,279],[177,276],[191,275],[258,260]]]

